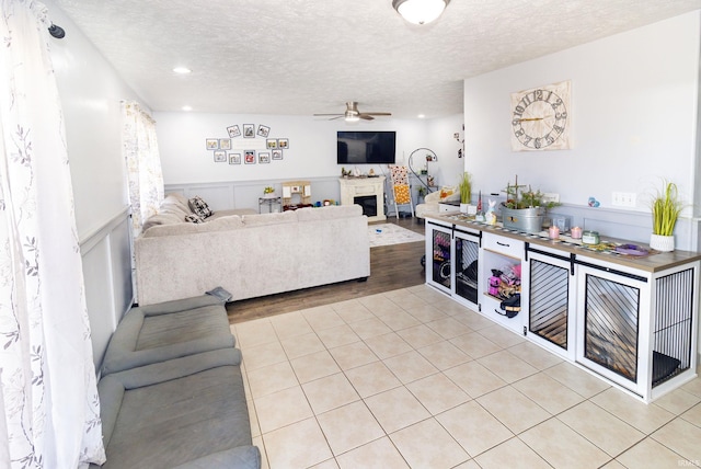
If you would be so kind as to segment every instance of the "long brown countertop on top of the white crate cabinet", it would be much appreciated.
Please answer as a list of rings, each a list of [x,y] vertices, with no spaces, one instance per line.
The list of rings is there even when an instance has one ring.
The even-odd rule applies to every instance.
[[[582,244],[582,240],[574,240],[567,236],[561,236],[559,239],[552,240],[548,238],[547,231],[541,231],[538,234],[529,234],[521,231],[505,229],[502,227],[502,224],[491,226],[483,222],[478,222],[460,213],[445,213],[438,215],[433,214],[427,217],[427,219],[433,219],[439,224],[448,224],[455,225],[456,227],[469,228],[481,232],[491,232],[506,238],[513,238],[519,241],[528,242],[529,244],[555,249],[559,251],[564,251],[566,253],[609,262],[612,264],[618,264],[647,273],[666,271],[668,268],[701,260],[701,253],[679,250],[675,250],[671,252],[652,251],[651,254],[642,256],[619,254],[610,251],[601,252],[589,249]],[[639,244],[650,250],[650,247],[646,244],[635,243],[633,241],[627,241],[607,236],[601,237],[601,242],[613,244]]]

